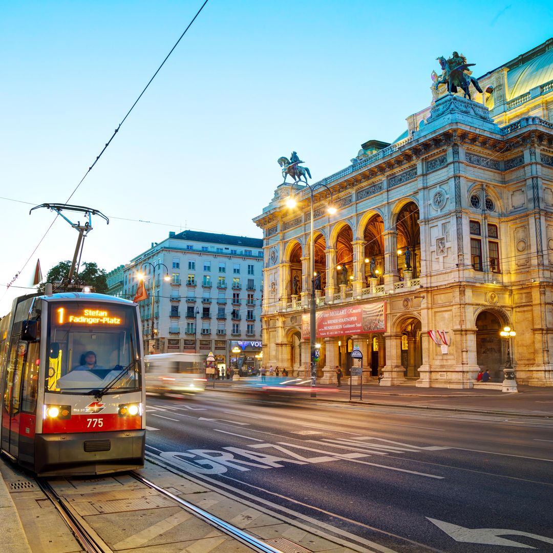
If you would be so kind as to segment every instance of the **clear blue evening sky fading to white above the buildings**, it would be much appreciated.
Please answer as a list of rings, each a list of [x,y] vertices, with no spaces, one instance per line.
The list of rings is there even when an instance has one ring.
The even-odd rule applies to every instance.
[[[2,2],[0,196],[64,202],[200,5]],[[461,51],[479,76],[549,38],[552,20],[540,1],[210,0],[71,200],[112,217],[83,259],[109,270],[185,225],[260,237],[251,220],[279,156],[294,149],[324,178],[429,105],[437,56]],[[4,285],[53,215],[0,205]],[[71,258],[76,237],[58,220],[15,284],[36,257],[44,273]]]

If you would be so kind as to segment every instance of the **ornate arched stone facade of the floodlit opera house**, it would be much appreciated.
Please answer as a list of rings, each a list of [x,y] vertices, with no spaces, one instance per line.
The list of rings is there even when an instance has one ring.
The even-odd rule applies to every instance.
[[[550,113],[553,87],[540,91],[542,113]],[[317,314],[337,321],[318,338],[321,382],[334,381],[336,365],[349,374],[354,346],[364,378],[382,374],[380,385],[470,388],[484,367],[501,380],[507,345],[499,331],[508,325],[517,331],[517,381],[553,385],[553,124],[525,112],[524,102],[509,108],[519,113],[513,120],[508,105],[494,114],[477,101],[438,96],[420,112],[424,124],[409,123],[418,114],[407,119],[407,138],[379,143],[321,181],[334,215],[314,184]],[[280,185],[254,219],[265,237],[263,359],[300,376],[308,371],[302,320],[312,284],[307,192],[290,210],[290,186]],[[363,319],[363,330],[347,330],[342,314],[382,304],[385,328]],[[432,341],[432,330],[445,331],[448,345]]]

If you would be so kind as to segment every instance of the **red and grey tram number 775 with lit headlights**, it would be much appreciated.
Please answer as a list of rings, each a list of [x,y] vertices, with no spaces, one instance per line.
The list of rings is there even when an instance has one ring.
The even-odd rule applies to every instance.
[[[65,292],[17,298],[0,320],[0,448],[39,476],[144,466],[137,304]]]

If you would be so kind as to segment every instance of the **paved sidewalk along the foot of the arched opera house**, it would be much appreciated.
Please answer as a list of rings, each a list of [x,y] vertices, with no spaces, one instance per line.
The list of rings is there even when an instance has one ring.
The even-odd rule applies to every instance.
[[[270,377],[267,378],[270,385]],[[212,381],[207,391],[213,390]],[[337,388],[335,384],[317,384],[317,398],[309,392],[289,392],[298,399],[310,401],[349,402],[349,384]],[[499,390],[416,388],[414,386],[379,386],[363,384],[363,399],[359,400],[359,386],[352,387],[352,403],[420,409],[468,411],[501,415],[524,415],[553,418],[553,388],[518,386],[518,393]],[[247,381],[216,380],[215,391],[247,393]],[[283,394],[287,393],[283,390]]]

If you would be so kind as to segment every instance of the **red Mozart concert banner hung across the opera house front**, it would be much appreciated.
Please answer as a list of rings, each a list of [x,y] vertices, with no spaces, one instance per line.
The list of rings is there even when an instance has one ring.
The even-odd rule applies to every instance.
[[[316,314],[317,338],[386,332],[386,304],[349,305]],[[301,316],[301,336],[309,338],[309,313]]]

